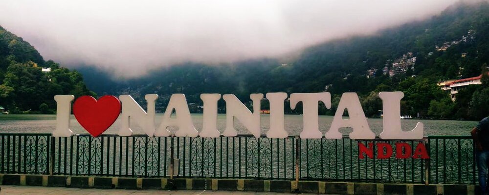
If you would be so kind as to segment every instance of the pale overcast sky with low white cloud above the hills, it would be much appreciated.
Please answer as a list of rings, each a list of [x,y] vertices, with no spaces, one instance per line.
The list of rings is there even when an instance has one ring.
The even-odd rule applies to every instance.
[[[440,14],[456,0],[2,0],[0,25],[63,66],[138,77],[277,57]]]

